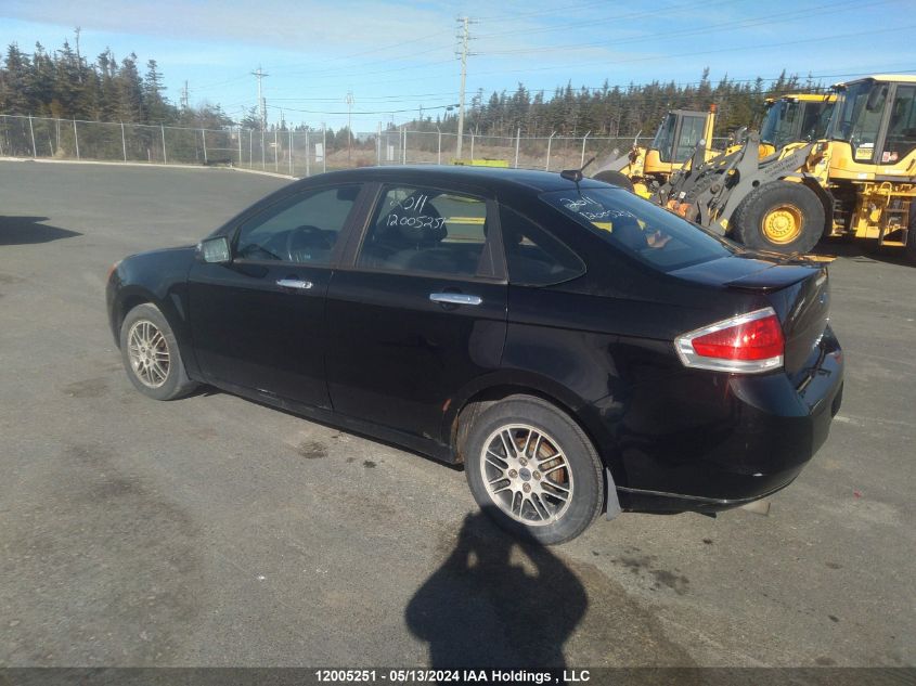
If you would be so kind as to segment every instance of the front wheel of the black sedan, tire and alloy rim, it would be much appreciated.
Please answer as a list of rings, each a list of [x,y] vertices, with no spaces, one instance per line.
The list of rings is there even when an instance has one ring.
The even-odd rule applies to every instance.
[[[188,378],[171,326],[150,302],[138,305],[124,318],[120,351],[128,378],[147,398],[175,400],[197,386]]]

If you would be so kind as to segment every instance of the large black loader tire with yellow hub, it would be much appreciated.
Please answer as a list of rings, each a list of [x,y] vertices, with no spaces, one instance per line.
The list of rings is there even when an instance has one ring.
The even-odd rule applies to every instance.
[[[777,215],[792,223],[780,224]],[[732,237],[747,247],[789,255],[817,245],[824,219],[824,205],[814,191],[803,183],[773,181],[751,191],[728,223]],[[782,231],[786,225],[790,228]]]

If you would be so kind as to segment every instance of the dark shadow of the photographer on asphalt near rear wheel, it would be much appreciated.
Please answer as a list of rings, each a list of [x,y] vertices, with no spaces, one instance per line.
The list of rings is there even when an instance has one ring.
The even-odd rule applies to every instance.
[[[429,644],[434,669],[563,669],[564,644],[588,606],[584,586],[559,558],[517,543],[478,513],[467,516],[452,554],[413,596],[405,618]]]

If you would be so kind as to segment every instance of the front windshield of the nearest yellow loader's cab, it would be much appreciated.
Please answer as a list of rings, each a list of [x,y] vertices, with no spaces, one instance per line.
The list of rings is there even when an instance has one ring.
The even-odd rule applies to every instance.
[[[837,95],[827,135],[848,142],[855,161],[873,160],[887,95],[888,85],[872,80],[852,83]]]

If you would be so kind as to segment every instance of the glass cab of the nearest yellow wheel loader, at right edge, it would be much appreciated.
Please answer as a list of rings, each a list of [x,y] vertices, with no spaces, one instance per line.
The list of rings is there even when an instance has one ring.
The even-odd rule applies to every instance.
[[[916,77],[875,76],[834,88],[836,112],[827,131],[837,148],[831,176],[834,168],[861,172],[863,166],[913,176],[909,158],[916,157]],[[905,159],[907,164],[903,164]]]

